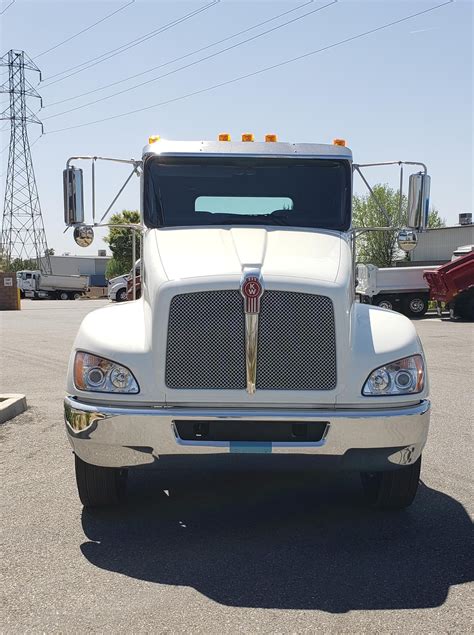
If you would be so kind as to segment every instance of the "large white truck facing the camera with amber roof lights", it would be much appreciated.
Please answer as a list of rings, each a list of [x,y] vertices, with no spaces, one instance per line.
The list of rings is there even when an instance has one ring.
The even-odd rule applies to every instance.
[[[65,221],[90,245],[102,220],[93,206],[84,223],[79,160],[119,160],[67,161]],[[141,179],[141,298],[89,313],[72,348],[65,423],[82,503],[117,503],[137,466],[206,469],[213,455],[252,453],[269,467],[292,455],[355,470],[372,506],[410,505],[428,376],[411,321],[356,302],[351,190],[369,165],[342,140],[250,134],[152,137],[141,160],[121,161]],[[407,163],[422,168],[400,232],[408,249],[429,176]]]

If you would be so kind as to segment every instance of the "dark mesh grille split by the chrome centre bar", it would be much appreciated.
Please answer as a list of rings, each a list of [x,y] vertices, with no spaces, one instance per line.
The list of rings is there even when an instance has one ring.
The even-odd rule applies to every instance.
[[[202,291],[171,301],[166,385],[245,390],[245,316],[239,291]],[[332,390],[336,338],[332,301],[294,291],[262,297],[257,390]]]

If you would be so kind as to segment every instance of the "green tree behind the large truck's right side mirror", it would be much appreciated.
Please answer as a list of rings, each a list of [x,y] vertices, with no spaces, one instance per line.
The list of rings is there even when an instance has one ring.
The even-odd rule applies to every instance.
[[[402,195],[401,207],[398,190],[387,184],[379,183],[373,188],[377,200],[381,203],[388,218],[380,210],[374,198],[367,195],[354,195],[354,227],[403,227],[406,225],[407,197]],[[444,227],[438,210],[432,208],[428,215],[428,227]],[[367,232],[357,237],[357,260],[370,262],[378,267],[390,267],[397,260],[407,256],[397,245],[397,232]]]

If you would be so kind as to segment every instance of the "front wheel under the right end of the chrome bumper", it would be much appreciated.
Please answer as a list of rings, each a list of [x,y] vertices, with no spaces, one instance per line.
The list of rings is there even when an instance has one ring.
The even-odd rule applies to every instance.
[[[388,472],[362,472],[362,487],[374,509],[404,509],[413,503],[420,479],[421,456],[412,465]]]

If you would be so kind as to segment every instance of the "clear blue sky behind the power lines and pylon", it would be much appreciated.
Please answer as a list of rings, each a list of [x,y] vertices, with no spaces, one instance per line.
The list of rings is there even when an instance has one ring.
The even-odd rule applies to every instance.
[[[128,0],[130,1],[130,0]],[[0,11],[11,0],[0,3]],[[54,132],[181,97],[234,77],[278,64],[309,51],[441,4],[442,0],[339,0],[331,2],[241,2],[221,0],[200,14],[144,43],[76,75],[53,75],[96,58],[151,32],[212,0],[165,2],[135,0],[81,36],[40,55],[127,3],[115,1],[15,0],[0,16],[0,53],[23,49],[43,73],[37,90],[45,135],[33,146],[35,172],[50,247],[78,253],[70,232],[63,234],[62,169],[70,155],[139,158],[151,134],[170,139],[214,139],[219,132],[256,138],[276,132],[280,140],[330,143],[347,139],[357,162],[419,160],[432,176],[432,202],[448,224],[459,212],[472,212],[473,3],[457,1],[391,28],[308,56],[216,90],[129,116]],[[304,5],[304,6],[303,6]],[[291,11],[292,9],[299,9]],[[150,67],[205,47],[278,14],[291,11],[239,37],[168,64],[107,90],[54,102],[118,82]],[[262,33],[298,16],[305,17],[251,42],[223,52],[146,86],[63,115],[58,113],[153,79],[186,63]],[[2,75],[4,76],[4,72]],[[31,80],[36,77],[31,75]],[[6,104],[6,95],[0,103]],[[31,100],[31,107],[37,107]],[[2,109],[3,109],[2,107]],[[39,107],[39,106],[38,106]],[[0,128],[5,128],[5,123]],[[0,150],[9,141],[1,133]],[[40,130],[30,126],[30,140]],[[7,151],[0,158],[3,201]],[[99,166],[99,211],[108,205],[127,175],[123,167]],[[395,171],[373,172],[373,181],[395,184]],[[362,186],[358,186],[362,191]],[[2,206],[3,207],[3,206]],[[117,208],[138,207],[138,180]],[[98,233],[93,247],[104,248]]]

